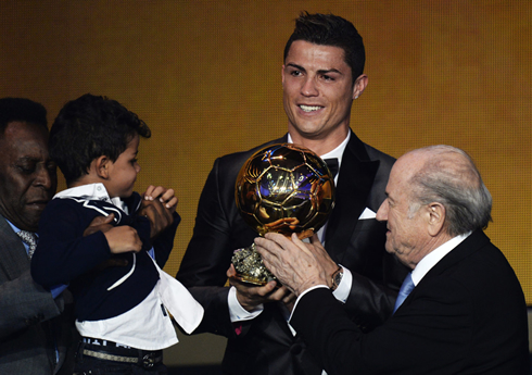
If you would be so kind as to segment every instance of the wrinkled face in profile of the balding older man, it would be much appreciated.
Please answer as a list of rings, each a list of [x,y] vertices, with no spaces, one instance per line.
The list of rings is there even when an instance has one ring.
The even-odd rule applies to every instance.
[[[390,173],[388,198],[377,212],[377,220],[388,222],[387,251],[414,270],[428,253],[431,239],[427,232],[425,208],[408,216],[410,188],[407,182],[419,161],[409,157],[403,158],[395,162]]]

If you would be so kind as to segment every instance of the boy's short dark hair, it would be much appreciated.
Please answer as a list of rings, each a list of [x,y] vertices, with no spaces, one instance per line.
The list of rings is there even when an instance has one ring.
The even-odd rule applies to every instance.
[[[88,174],[102,155],[115,162],[135,135],[150,138],[148,125],[124,105],[86,93],[67,102],[50,129],[49,152],[66,184]]]

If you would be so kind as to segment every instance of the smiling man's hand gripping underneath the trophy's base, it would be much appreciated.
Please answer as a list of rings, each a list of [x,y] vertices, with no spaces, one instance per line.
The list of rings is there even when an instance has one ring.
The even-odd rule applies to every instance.
[[[236,275],[237,271],[231,264],[229,270],[227,270],[227,277],[229,277],[229,284],[237,288],[237,299],[240,305],[246,311],[252,311],[259,304],[274,301],[283,301],[290,310],[293,307],[295,296],[287,287],[276,289],[276,282],[269,282],[264,286],[242,283],[235,278]]]

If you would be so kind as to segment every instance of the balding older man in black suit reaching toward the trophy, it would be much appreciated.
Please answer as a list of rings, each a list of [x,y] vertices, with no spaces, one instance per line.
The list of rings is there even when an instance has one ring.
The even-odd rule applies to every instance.
[[[394,315],[369,334],[328,289],[317,238],[255,240],[266,266],[299,296],[290,324],[327,373],[529,374],[524,296],[482,230],[492,198],[469,155],[449,146],[408,152],[387,196],[377,212],[388,223],[387,250],[413,271]]]

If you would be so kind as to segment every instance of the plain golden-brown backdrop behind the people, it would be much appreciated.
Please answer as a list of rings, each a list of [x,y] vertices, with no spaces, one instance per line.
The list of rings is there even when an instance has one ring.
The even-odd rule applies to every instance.
[[[215,158],[287,129],[282,50],[300,11],[352,21],[369,76],[352,128],[394,157],[434,143],[469,152],[494,198],[487,235],[532,304],[529,0],[3,0],[0,9],[0,97],[41,102],[51,124],[67,100],[105,95],[152,128],[137,190],[156,184],[179,197],[169,274]]]

